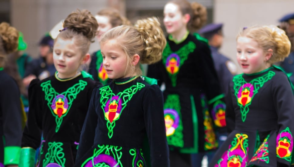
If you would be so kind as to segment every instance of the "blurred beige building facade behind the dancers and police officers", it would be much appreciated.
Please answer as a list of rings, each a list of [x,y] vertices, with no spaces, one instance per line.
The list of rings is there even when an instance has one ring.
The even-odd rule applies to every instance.
[[[195,2],[191,1],[190,2]],[[0,0],[0,22],[9,22],[24,34],[26,50],[38,56],[38,42],[53,26],[74,11],[88,9],[95,15],[100,9],[118,9],[132,22],[147,16],[158,16],[162,22],[163,7],[168,0]],[[224,42],[220,51],[236,63],[236,35],[243,27],[279,25],[278,20],[294,12],[294,0],[197,0],[208,11],[208,23],[223,23]],[[165,31],[164,27],[162,27]],[[100,48],[98,42],[90,52]],[[238,67],[238,72],[240,69]]]

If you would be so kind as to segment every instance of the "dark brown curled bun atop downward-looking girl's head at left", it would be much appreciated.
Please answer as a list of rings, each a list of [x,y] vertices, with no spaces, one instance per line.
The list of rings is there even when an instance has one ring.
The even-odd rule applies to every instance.
[[[96,35],[98,23],[91,12],[86,9],[77,9],[67,16],[64,20],[63,27],[82,33],[89,41],[94,42],[92,39]]]

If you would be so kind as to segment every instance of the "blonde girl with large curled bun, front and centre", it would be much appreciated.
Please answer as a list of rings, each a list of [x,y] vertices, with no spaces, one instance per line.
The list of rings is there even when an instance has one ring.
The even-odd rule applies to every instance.
[[[138,20],[135,27],[118,26],[102,35],[103,66],[112,81],[94,89],[76,166],[150,165],[142,150],[146,135],[151,166],[169,166],[162,91],[156,80],[140,76],[139,66],[139,62],[159,61],[165,44],[156,18]]]

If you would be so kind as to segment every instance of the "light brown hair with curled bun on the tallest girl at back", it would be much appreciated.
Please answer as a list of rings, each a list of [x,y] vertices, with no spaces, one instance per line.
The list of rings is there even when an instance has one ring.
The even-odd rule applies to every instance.
[[[178,5],[182,15],[190,15],[191,18],[187,24],[187,29],[191,32],[200,29],[207,21],[206,8],[197,2],[190,3],[187,0],[173,0],[168,3]]]

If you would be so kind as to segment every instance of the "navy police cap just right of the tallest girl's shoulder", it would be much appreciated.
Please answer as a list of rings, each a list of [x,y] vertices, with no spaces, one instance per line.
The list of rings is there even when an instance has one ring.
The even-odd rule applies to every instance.
[[[206,26],[204,26],[202,29],[198,31],[199,34],[202,34],[204,38],[209,39],[212,37],[214,34],[220,34],[222,35],[222,23],[211,23]]]

